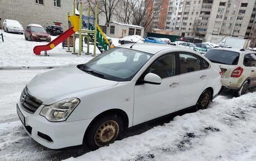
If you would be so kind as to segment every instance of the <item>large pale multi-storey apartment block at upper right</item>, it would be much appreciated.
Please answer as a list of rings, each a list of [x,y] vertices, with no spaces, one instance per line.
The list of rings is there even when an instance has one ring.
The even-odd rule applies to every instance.
[[[176,34],[218,43],[226,36],[253,36],[255,0],[185,0]],[[255,34],[254,34],[255,35]]]

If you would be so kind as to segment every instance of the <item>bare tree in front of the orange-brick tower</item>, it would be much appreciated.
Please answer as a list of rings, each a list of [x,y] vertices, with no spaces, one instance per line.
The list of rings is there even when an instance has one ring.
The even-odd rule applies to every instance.
[[[154,0],[141,0],[133,10],[135,25],[143,26],[145,29],[151,24],[154,17],[161,12],[162,0],[154,3]]]

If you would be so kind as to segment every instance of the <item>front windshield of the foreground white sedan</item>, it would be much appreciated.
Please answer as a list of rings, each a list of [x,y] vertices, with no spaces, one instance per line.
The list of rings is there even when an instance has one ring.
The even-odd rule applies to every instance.
[[[103,79],[130,81],[152,56],[137,50],[113,48],[77,67]]]

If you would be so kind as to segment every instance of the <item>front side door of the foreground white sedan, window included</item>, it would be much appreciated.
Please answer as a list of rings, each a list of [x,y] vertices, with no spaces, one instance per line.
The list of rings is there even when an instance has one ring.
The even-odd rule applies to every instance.
[[[149,72],[161,77],[160,85],[139,83]],[[134,125],[175,112],[179,82],[176,54],[168,53],[157,58],[135,85]]]

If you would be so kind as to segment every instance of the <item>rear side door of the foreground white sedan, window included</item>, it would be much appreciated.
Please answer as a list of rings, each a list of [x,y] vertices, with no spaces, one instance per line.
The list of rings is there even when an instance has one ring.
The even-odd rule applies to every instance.
[[[177,98],[177,111],[196,104],[208,80],[209,65],[202,67],[206,61],[194,53],[179,52],[180,90]],[[204,61],[204,62],[202,62]]]

